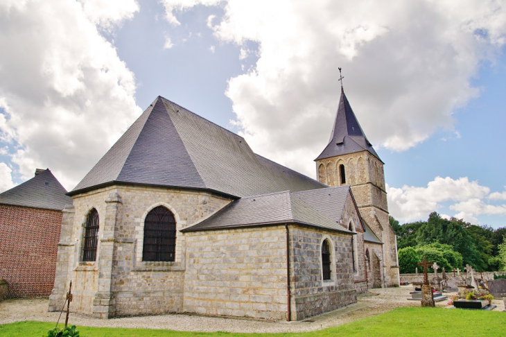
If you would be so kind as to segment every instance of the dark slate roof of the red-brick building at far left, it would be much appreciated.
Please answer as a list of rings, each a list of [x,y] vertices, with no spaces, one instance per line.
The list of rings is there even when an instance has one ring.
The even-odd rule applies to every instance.
[[[0,204],[61,211],[65,205],[72,205],[67,190],[55,178],[49,168],[23,184],[0,193]]]

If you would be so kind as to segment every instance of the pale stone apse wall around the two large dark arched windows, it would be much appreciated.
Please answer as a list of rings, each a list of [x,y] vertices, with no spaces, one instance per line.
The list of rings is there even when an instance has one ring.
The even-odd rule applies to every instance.
[[[55,302],[64,294],[63,285],[73,280],[74,310],[101,318],[182,311],[186,243],[179,230],[231,201],[202,191],[123,186],[73,198],[71,230],[67,234],[62,230],[60,239],[60,273],[66,273],[67,279],[55,281],[49,309],[55,309]],[[173,262],[142,261],[143,221],[158,205],[170,209],[176,219]],[[93,207],[100,218],[97,261],[84,263],[80,262],[82,225]]]

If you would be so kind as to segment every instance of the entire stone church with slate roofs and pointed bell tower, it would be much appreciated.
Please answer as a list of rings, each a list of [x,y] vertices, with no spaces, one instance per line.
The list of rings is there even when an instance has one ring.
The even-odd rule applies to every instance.
[[[304,320],[398,286],[383,162],[344,92],[317,180],[165,98],[139,116],[63,210],[58,311]]]

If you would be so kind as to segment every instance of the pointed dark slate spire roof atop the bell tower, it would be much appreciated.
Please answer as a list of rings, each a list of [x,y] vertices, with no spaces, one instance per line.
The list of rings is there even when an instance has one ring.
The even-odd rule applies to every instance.
[[[365,133],[360,127],[351,105],[349,105],[348,98],[344,94],[344,89],[341,88],[341,98],[338,112],[335,114],[329,144],[315,160],[361,151],[369,151],[381,161],[374,148],[372,148],[372,144],[365,137]]]

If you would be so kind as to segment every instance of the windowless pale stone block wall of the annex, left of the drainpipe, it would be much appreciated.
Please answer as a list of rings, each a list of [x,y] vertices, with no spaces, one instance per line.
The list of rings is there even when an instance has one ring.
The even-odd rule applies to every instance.
[[[186,233],[184,311],[286,320],[286,232],[272,227]]]

